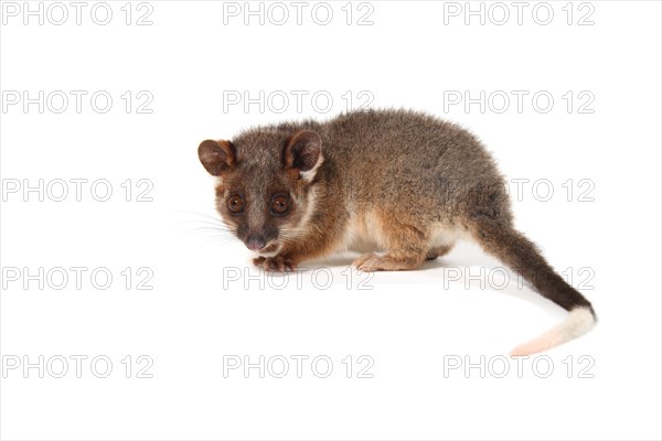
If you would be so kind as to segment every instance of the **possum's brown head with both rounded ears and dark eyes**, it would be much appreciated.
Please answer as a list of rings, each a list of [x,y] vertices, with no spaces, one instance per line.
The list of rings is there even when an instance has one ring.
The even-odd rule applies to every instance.
[[[301,238],[323,162],[317,132],[254,130],[233,141],[203,141],[197,154],[218,176],[218,213],[248,249],[270,256]]]

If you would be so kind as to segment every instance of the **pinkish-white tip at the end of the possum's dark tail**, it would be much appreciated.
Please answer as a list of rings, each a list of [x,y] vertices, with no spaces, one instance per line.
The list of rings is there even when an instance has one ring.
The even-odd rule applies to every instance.
[[[580,337],[589,332],[596,324],[596,318],[589,308],[579,306],[570,310],[567,319],[540,335],[538,337],[523,343],[511,351],[511,356],[522,356],[536,354],[551,349],[573,338]]]

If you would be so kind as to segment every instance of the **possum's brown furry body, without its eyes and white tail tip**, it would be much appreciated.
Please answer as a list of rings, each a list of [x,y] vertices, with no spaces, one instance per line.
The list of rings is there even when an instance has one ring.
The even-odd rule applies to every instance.
[[[259,127],[232,142],[207,140],[199,154],[220,176],[224,222],[244,241],[264,239],[266,256],[255,263],[266,270],[291,270],[354,236],[385,251],[361,256],[357,268],[415,269],[467,236],[566,310],[590,308],[513,228],[494,161],[456,125],[414,111],[356,111],[324,123]],[[274,216],[269,201],[279,193],[291,205]],[[228,212],[233,194],[243,195],[246,213]]]

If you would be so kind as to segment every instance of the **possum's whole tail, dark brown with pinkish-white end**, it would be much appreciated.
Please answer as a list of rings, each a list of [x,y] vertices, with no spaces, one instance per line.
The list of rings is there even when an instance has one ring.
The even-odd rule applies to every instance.
[[[519,345],[511,355],[547,351],[586,334],[595,326],[596,313],[590,302],[554,272],[531,240],[490,216],[473,217],[470,229],[487,252],[522,275],[540,294],[569,312],[564,322]]]

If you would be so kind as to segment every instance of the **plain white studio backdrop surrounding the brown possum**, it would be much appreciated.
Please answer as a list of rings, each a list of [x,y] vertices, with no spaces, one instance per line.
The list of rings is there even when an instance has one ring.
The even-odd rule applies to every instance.
[[[88,183],[81,202],[73,184],[63,202],[49,194],[40,202],[22,189],[4,194],[2,439],[660,439],[659,2],[551,2],[546,25],[536,23],[546,20],[545,6],[532,17],[535,2],[523,10],[522,24],[515,7],[502,3],[510,12],[502,25],[495,22],[503,9],[492,3],[482,6],[484,24],[470,17],[468,25],[465,2],[354,3],[350,25],[345,2],[329,3],[327,25],[312,20],[312,2],[301,25],[289,2],[282,25],[269,21],[280,20],[280,10],[271,9],[264,25],[259,17],[245,25],[242,14],[224,15],[223,3],[213,1],[151,1],[140,9],[136,2],[130,25],[124,1],[108,3],[106,25],[90,19],[94,2],[79,25],[65,2],[64,24],[46,15],[43,25],[39,17],[25,25],[23,3],[15,4],[21,11],[3,14],[0,31],[3,189],[40,179],[45,186]],[[42,4],[46,14],[51,3]],[[456,7],[458,17],[449,14]],[[148,12],[152,24],[137,25]],[[51,13],[60,20],[60,11]],[[97,13],[103,20],[103,10]],[[323,10],[318,13],[323,20]],[[357,25],[365,13],[373,24]],[[592,25],[578,24],[586,14]],[[8,104],[15,97],[8,90],[32,98],[43,90],[44,100],[62,90],[70,105],[62,114],[53,111],[60,101],[44,103],[43,114],[38,104],[25,110],[22,101]],[[87,93],[79,114],[71,90]],[[90,107],[98,90],[114,99],[106,114]],[[129,114],[120,97],[127,90]],[[141,90],[153,97],[151,114],[136,111]],[[233,90],[253,98],[260,90],[265,97],[282,93],[290,103],[282,112],[280,101],[246,111],[243,103],[228,105]],[[291,90],[308,94],[300,109]],[[448,106],[453,92],[465,90],[473,98],[502,90],[512,99],[503,112],[496,111],[501,101],[487,103],[484,112],[479,105]],[[528,94],[521,112],[512,90]],[[327,112],[323,100],[317,109],[311,104],[319,92],[333,98]],[[418,271],[370,280],[352,272],[350,289],[352,256],[311,262],[300,284],[292,277],[281,290],[275,283],[282,279],[231,280],[228,271],[258,272],[249,269],[248,250],[214,228],[213,180],[199,163],[197,144],[258,123],[330,118],[348,107],[348,92],[353,107],[366,92],[361,97],[372,97],[372,107],[402,106],[460,122],[484,141],[509,180],[530,180],[522,197],[513,194],[516,225],[559,272],[583,283],[599,315],[595,331],[546,354],[537,370],[532,357],[519,378],[513,361],[498,378],[503,358],[493,357],[564,313],[515,281],[495,289],[500,279],[490,271],[500,263],[470,244]],[[548,112],[533,107],[537,92],[553,96]],[[588,95],[579,99],[581,92]],[[579,112],[587,96],[595,99],[583,110],[592,112]],[[113,186],[107,202],[89,193],[100,179]],[[127,179],[130,202],[120,185]],[[137,185],[141,179],[153,184],[152,202],[136,201],[147,189]],[[552,183],[546,202],[545,187],[532,192],[538,180]],[[570,201],[563,186],[568,180]],[[579,180],[590,183],[579,186]],[[579,201],[589,186],[592,202]],[[61,290],[53,280],[23,289],[22,278],[6,272],[34,275],[40,267],[44,273],[88,271],[82,289],[70,271]],[[128,290],[127,267],[134,273]],[[153,273],[152,290],[136,287],[142,267]],[[313,278],[318,267],[331,271],[330,287],[325,269]],[[108,289],[90,284],[95,268],[113,273]],[[480,280],[468,280],[471,275]],[[359,289],[360,281],[372,290]],[[40,355],[54,361],[44,378],[36,368],[24,374],[23,366],[7,366],[24,356],[38,363]],[[75,355],[88,357],[81,378]],[[99,355],[113,362],[107,378],[90,370]],[[121,363],[127,355],[130,378]],[[137,378],[140,355],[153,361],[152,378]],[[254,363],[260,355],[309,358],[301,378],[293,361],[285,378],[270,372],[260,378],[258,369],[224,378],[227,355]],[[333,362],[328,378],[311,370],[320,355]],[[351,378],[342,363],[348,355]],[[357,378],[361,355],[374,362],[373,378]],[[70,359],[63,378],[52,375],[61,370],[56,356]],[[451,361],[480,365],[481,356],[484,378],[479,368],[445,372]],[[542,378],[549,363],[553,372]]]

